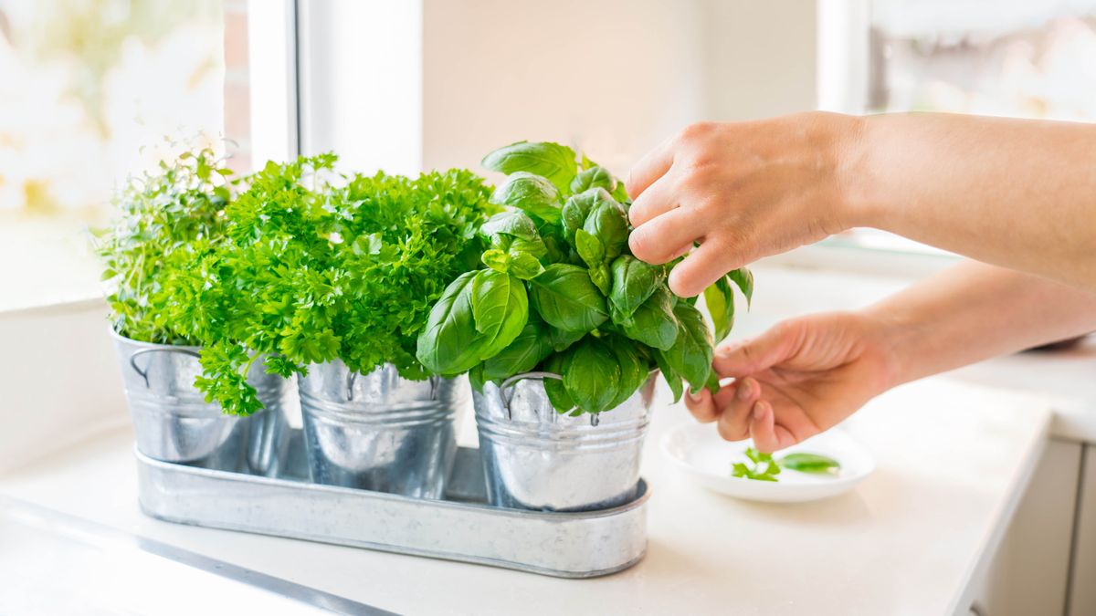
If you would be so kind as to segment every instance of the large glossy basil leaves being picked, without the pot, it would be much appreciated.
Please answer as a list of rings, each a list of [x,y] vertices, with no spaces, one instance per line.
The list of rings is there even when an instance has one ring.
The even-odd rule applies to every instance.
[[[418,340],[431,372],[470,374],[473,386],[530,370],[557,373],[545,387],[557,411],[619,406],[659,369],[680,399],[718,387],[712,346],[731,328],[739,270],[705,293],[713,328],[670,292],[667,267],[628,250],[630,201],[606,169],[571,148],[521,141],[483,166],[506,174],[491,201],[506,209],[479,232],[479,266],[450,284]],[[715,332],[712,331],[715,329]]]

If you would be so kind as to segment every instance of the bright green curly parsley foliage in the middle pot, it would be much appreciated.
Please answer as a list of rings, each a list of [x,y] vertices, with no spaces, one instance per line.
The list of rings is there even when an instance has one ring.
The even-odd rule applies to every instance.
[[[261,408],[247,384],[260,360],[285,377],[333,360],[433,374],[415,341],[446,285],[487,248],[478,229],[499,210],[491,190],[464,170],[347,176],[335,162],[270,162],[242,179],[216,229],[183,240],[158,272],[151,309],[176,340],[202,346],[195,385],[226,412]]]

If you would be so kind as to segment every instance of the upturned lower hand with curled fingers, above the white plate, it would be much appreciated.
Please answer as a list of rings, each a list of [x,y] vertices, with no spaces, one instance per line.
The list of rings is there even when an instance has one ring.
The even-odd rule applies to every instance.
[[[897,330],[868,312],[784,321],[758,338],[716,350],[715,368],[734,383],[685,404],[718,421],[727,441],[751,437],[774,452],[833,427],[899,381]]]

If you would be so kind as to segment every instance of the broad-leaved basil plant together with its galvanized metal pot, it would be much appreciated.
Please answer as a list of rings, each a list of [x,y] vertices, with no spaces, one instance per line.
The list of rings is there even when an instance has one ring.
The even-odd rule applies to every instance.
[[[696,298],[678,298],[665,266],[628,250],[630,202],[620,183],[564,146],[518,142],[487,156],[507,174],[507,206],[480,233],[479,269],[442,294],[418,356],[473,386],[488,492],[500,506],[580,511],[631,500],[654,370],[717,387],[713,334]],[[704,294],[715,336],[730,330],[732,272]]]

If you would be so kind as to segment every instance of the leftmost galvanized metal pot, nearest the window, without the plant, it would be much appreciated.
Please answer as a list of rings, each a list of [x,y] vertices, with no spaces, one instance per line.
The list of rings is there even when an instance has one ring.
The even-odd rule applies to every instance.
[[[248,374],[264,409],[226,415],[194,388],[202,373],[197,346],[153,344],[113,332],[137,449],[146,456],[205,468],[275,475],[288,445],[288,417],[297,411],[292,380],[256,361]]]

